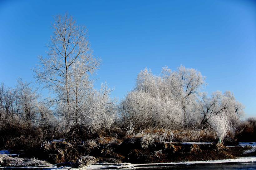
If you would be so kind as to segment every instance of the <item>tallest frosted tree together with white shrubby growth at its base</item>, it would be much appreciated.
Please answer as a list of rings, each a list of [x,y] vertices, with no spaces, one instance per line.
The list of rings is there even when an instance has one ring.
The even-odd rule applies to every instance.
[[[35,73],[38,81],[57,94],[57,116],[65,119],[66,125],[109,127],[116,104],[105,85],[101,90],[94,89],[92,75],[100,60],[92,54],[86,28],[66,14],[55,17],[53,29],[48,57],[39,57]]]

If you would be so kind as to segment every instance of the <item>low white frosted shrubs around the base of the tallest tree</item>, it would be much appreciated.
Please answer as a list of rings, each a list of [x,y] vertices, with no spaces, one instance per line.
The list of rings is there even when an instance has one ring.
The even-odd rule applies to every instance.
[[[116,100],[110,98],[111,91],[106,83],[101,85],[99,91],[93,89],[77,115],[74,114],[76,113],[75,103],[69,102],[67,105],[59,102],[57,114],[62,121],[65,121],[66,128],[77,124],[91,132],[110,128],[116,116]]]

